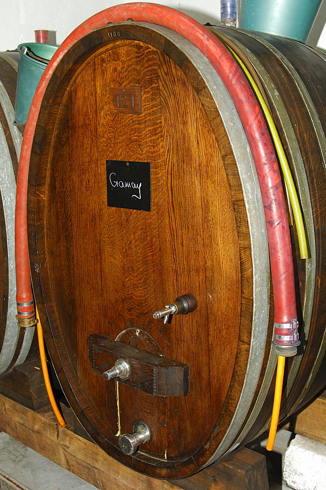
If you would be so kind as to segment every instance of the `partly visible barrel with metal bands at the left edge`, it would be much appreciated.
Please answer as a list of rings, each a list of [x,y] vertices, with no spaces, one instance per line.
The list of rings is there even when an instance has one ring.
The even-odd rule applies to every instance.
[[[22,364],[34,329],[21,329],[16,316],[15,196],[22,135],[14,125],[18,52],[0,53],[0,375]]]

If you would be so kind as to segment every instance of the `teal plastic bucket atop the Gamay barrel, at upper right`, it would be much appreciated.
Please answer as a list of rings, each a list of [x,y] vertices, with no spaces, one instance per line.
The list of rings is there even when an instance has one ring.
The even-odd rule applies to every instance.
[[[322,0],[241,0],[239,26],[305,43]]]

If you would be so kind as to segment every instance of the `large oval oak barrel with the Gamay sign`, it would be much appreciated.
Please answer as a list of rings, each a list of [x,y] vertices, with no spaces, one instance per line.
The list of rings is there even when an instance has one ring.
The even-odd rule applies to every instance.
[[[326,64],[296,42],[211,29],[257,71],[301,199],[309,259],[291,226],[301,346],[286,363],[284,418],[325,383]],[[131,21],[76,41],[44,93],[27,211],[51,360],[105,451],[181,478],[268,428],[276,354],[264,208],[232,99],[197,48]],[[174,302],[189,313],[153,318]],[[111,368],[122,376],[104,379]]]

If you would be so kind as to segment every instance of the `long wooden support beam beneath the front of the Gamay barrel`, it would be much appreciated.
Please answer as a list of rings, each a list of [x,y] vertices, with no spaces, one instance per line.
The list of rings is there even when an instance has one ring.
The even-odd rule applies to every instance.
[[[74,414],[62,406],[62,429],[50,407],[33,412],[0,394],[0,430],[100,490],[268,490],[265,456],[242,448],[218,465],[182,480],[155,480],[110,458],[74,434]]]

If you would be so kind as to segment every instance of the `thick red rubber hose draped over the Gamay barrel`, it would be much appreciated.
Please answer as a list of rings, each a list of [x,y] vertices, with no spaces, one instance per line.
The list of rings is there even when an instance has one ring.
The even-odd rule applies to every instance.
[[[24,303],[32,300],[26,232],[27,176],[35,125],[50,76],[64,53],[81,37],[109,22],[125,22],[130,18],[135,22],[163,25],[188,39],[201,50],[225,83],[244,126],[258,174],[270,249],[275,321],[291,323],[297,319],[297,311],[290,232],[277,159],[258,102],[236,61],[214,34],[186,14],[155,3],[126,3],[90,17],[67,37],[44,71],[28,114],[19,163],[16,204],[17,301]],[[290,331],[283,329],[282,333],[290,334]]]

